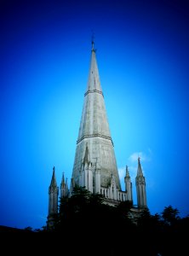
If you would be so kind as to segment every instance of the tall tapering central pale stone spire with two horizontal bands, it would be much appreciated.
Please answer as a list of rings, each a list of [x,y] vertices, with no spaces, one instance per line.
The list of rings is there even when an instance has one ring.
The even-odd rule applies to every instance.
[[[111,183],[113,175],[117,189],[121,189],[111,132],[106,116],[104,96],[100,85],[94,40],[92,41],[89,79],[87,90],[84,94],[83,113],[77,137],[77,148],[72,171],[72,178],[76,184],[79,184],[79,176],[83,159],[85,159],[87,143],[93,168],[96,161],[100,163],[101,186],[107,188]]]

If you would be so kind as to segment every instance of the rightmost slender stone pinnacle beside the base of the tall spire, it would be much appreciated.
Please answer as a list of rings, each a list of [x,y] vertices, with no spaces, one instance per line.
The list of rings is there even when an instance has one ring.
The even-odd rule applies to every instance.
[[[137,176],[135,178],[136,183],[136,195],[137,195],[137,204],[138,207],[147,207],[146,204],[146,182],[145,177],[143,176],[143,172],[140,165],[140,157],[138,158],[138,169]]]

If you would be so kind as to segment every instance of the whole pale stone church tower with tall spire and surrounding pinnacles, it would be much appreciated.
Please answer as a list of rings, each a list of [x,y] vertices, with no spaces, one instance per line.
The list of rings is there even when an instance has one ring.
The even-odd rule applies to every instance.
[[[121,189],[117,171],[111,132],[106,116],[104,95],[96,61],[94,41],[92,41],[89,79],[84,93],[83,112],[77,137],[75,160],[72,169],[70,189],[64,173],[60,183],[60,198],[71,197],[74,187],[85,187],[91,193],[103,195],[105,203],[116,206],[119,201],[133,202],[132,183],[126,166],[125,190]],[[138,159],[135,178],[138,207],[131,208],[131,215],[138,216],[146,206],[146,182]],[[58,213],[59,188],[53,177],[49,186],[48,226],[53,226]]]

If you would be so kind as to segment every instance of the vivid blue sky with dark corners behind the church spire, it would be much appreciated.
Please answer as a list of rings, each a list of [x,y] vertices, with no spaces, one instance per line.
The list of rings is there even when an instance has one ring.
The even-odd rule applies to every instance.
[[[70,183],[92,30],[122,188],[140,155],[152,214],[189,213],[186,2],[1,1],[0,224],[41,228]]]

